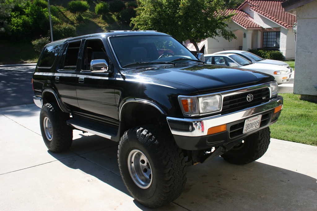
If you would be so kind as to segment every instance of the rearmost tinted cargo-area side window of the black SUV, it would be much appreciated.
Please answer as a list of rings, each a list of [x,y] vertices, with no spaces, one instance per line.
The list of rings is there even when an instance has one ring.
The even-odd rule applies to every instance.
[[[60,51],[60,47],[63,44],[64,41],[60,42],[54,42],[48,44],[43,52],[42,56],[38,62],[39,67],[52,67],[54,64],[54,61],[57,57],[58,52]]]

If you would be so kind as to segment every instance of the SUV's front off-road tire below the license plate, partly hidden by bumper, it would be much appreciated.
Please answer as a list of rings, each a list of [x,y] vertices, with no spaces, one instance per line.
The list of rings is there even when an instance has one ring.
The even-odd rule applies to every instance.
[[[221,157],[233,164],[248,164],[261,158],[268,150],[269,144],[270,128],[266,127],[250,134]]]

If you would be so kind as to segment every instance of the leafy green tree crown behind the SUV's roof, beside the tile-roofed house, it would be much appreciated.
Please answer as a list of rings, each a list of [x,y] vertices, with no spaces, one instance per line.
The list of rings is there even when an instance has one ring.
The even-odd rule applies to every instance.
[[[132,18],[133,29],[157,30],[171,34],[180,41],[197,42],[208,37],[236,38],[228,30],[223,0],[139,0],[137,16]]]

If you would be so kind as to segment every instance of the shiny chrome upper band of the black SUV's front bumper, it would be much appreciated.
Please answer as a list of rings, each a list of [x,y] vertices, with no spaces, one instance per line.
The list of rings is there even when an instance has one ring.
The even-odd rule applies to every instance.
[[[218,115],[212,117],[198,119],[181,119],[174,117],[166,117],[171,133],[174,135],[197,137],[207,135],[210,127],[227,124],[234,121],[246,119],[251,116],[259,115],[270,109],[274,109],[283,104],[283,98],[278,96],[269,102],[263,103],[252,108],[244,109],[227,115]],[[202,126],[204,129],[202,129]],[[178,128],[188,128],[179,130]]]

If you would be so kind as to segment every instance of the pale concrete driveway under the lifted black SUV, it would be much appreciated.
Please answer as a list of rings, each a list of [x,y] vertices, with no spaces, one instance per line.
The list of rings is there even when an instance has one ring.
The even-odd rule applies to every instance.
[[[47,150],[34,104],[0,109],[0,210],[150,210],[128,194],[117,144],[74,130]],[[187,169],[183,194],[156,210],[317,210],[317,147],[271,139],[256,162],[221,157]]]

